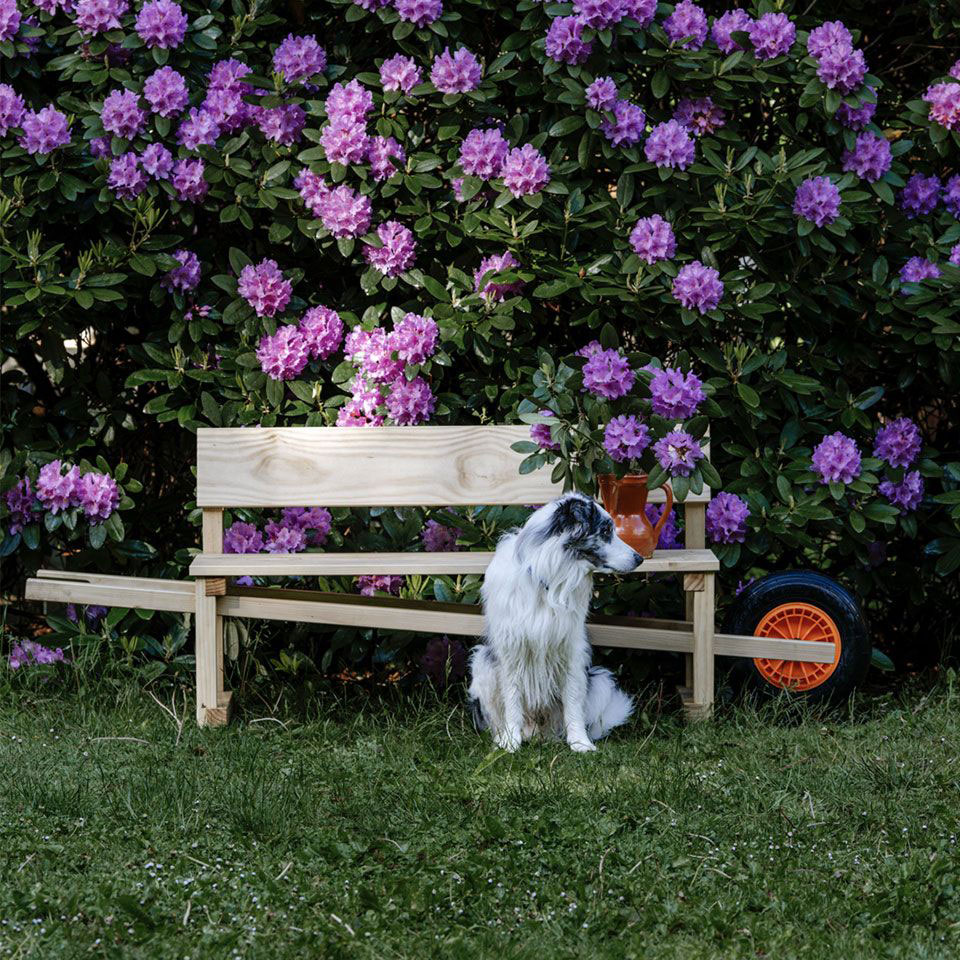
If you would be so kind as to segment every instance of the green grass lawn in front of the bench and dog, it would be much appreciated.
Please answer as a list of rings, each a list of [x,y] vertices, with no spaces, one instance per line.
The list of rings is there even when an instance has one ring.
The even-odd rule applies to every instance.
[[[596,754],[330,695],[201,731],[0,682],[0,957],[960,955],[960,682]],[[169,704],[170,693],[166,694]]]

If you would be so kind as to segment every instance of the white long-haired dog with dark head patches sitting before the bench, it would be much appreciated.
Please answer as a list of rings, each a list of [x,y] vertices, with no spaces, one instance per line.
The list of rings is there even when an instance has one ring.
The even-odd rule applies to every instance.
[[[565,737],[583,753],[629,719],[632,699],[609,670],[590,665],[586,619],[593,574],[642,562],[610,515],[577,493],[500,539],[482,590],[487,635],[470,658],[478,730],[511,753],[537,735]]]

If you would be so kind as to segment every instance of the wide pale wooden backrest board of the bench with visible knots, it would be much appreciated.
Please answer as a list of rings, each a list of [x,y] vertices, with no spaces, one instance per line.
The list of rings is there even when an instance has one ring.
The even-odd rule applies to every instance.
[[[546,503],[549,467],[521,475],[520,425],[200,427],[200,507],[473,506]],[[653,491],[651,502],[663,500]],[[709,501],[709,490],[688,498]]]

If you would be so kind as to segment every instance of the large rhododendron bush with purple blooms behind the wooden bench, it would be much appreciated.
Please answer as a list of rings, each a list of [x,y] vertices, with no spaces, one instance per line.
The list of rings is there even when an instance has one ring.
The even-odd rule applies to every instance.
[[[525,422],[523,469],[568,487],[722,491],[731,586],[955,598],[958,30],[926,3],[0,0],[2,553],[182,576],[198,426]],[[458,549],[523,516],[291,504],[226,546]]]

